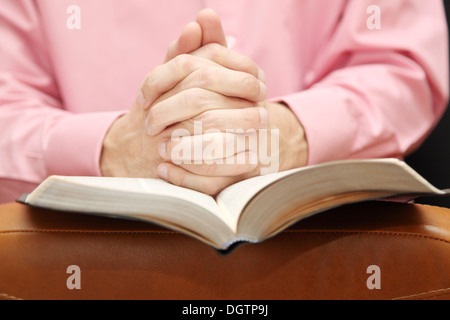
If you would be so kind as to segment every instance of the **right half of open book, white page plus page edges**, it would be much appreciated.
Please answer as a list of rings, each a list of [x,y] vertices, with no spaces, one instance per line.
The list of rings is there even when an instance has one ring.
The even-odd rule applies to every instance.
[[[268,189],[275,184],[275,189]],[[277,219],[274,213],[282,211],[281,206],[288,207],[293,203],[300,206],[299,199],[305,205],[354,192],[366,192],[368,197],[370,194],[378,196],[381,192],[442,193],[397,159],[373,159],[335,161],[244,180],[223,190],[216,201],[227,216],[227,223],[236,232],[238,222],[245,224],[242,212],[249,206],[255,208],[249,203],[257,198],[260,206],[250,210],[257,213],[249,214],[250,222],[245,229],[251,234],[251,229],[258,229],[256,225],[262,223],[255,221],[255,215],[270,224],[270,219]],[[268,197],[271,201],[267,201]],[[270,219],[263,216],[262,212],[266,211]],[[266,227],[259,226],[261,229]]]

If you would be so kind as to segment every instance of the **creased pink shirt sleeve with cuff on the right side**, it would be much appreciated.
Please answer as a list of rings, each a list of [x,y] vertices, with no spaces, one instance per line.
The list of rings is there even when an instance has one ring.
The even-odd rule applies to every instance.
[[[361,14],[372,3],[379,29]],[[305,128],[309,164],[414,150],[446,107],[447,39],[442,1],[349,1],[307,89],[279,99]]]

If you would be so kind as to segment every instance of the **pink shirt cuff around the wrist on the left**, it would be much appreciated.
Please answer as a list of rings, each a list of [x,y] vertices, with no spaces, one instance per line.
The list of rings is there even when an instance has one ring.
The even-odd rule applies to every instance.
[[[48,175],[101,176],[103,139],[125,111],[71,114],[59,119],[45,142]]]

